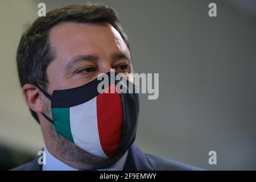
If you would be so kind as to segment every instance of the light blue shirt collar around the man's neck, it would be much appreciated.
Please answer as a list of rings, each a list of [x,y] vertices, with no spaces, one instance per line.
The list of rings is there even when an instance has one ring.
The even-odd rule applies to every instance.
[[[46,164],[43,164],[43,171],[80,171],[80,169],[73,168],[61,162],[59,159],[55,158],[46,147],[44,147],[44,152],[46,156]],[[115,162],[112,166],[108,166],[106,168],[97,169],[97,171],[122,171],[125,166],[125,162],[127,159],[128,151],[120,158],[117,162]]]

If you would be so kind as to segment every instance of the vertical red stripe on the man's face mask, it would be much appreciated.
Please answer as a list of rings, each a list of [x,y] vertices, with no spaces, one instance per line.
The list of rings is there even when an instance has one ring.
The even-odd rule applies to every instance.
[[[109,91],[115,89],[115,85],[110,85]],[[122,121],[122,101],[118,93],[101,93],[97,96],[97,121],[100,143],[105,154],[112,158],[118,149]]]

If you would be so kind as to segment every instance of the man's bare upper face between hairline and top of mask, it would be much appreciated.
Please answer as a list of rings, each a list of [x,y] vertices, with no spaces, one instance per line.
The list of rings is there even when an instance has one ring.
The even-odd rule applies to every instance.
[[[129,49],[108,23],[63,23],[52,28],[49,42],[56,56],[47,68],[50,93],[81,86],[110,69],[132,72]]]

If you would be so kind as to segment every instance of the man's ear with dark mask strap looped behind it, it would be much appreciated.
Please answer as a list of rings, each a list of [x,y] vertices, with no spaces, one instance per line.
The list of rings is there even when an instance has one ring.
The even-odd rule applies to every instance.
[[[38,90],[38,88],[36,88],[35,85],[23,85],[22,93],[30,109],[36,113],[43,113],[44,107],[42,93]]]

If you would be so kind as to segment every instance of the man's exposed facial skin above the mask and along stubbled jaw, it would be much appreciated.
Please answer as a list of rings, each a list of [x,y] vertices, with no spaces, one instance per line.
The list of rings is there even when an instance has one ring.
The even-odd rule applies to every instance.
[[[49,42],[55,54],[47,68],[49,94],[53,90],[84,85],[110,69],[132,73],[129,49],[119,32],[108,23],[62,23],[52,28]],[[51,116],[51,102],[46,97],[43,100],[44,113]],[[47,149],[65,163],[86,168],[106,166],[117,160],[106,161],[89,154],[57,134],[51,123],[39,117]],[[85,166],[86,163],[89,166]]]

